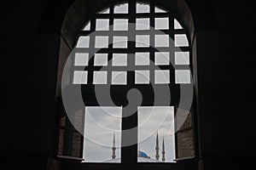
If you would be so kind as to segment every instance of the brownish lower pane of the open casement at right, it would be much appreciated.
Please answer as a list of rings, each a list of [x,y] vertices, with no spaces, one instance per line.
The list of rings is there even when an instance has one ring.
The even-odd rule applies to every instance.
[[[177,158],[195,156],[193,130],[177,133]]]

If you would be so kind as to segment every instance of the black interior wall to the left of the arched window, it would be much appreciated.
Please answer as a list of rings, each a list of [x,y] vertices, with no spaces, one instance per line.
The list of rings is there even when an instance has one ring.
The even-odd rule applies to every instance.
[[[60,43],[57,32],[40,31],[47,3],[12,1],[1,5],[1,169],[4,165],[7,169],[47,166]]]

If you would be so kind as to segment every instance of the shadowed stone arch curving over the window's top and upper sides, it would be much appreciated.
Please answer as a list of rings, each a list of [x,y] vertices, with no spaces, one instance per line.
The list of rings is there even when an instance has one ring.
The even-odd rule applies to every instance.
[[[135,1],[135,0],[134,0]],[[75,46],[78,37],[79,31],[83,26],[94,17],[96,12],[102,10],[103,8],[108,8],[109,4],[113,3],[125,3],[127,1],[120,0],[76,0],[67,10],[67,14],[64,17],[61,26],[61,47],[60,47],[60,60],[59,60],[59,76],[61,77],[63,65],[67,59],[68,54]],[[141,2],[141,1],[137,1]],[[183,29],[186,31],[191,49],[192,59],[191,67],[192,74],[195,84],[195,95],[197,96],[197,81],[196,81],[196,54],[195,54],[195,26],[194,20],[192,18],[191,11],[187,3],[184,0],[144,0],[142,3],[154,3],[154,5],[163,7],[174,15],[174,18],[183,26]],[[61,81],[58,81],[57,88],[61,87]],[[57,89],[57,95],[60,90]],[[61,93],[59,93],[59,96]]]

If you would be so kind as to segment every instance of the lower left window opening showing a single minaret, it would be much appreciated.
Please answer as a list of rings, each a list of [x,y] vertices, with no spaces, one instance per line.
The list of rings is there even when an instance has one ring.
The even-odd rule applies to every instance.
[[[120,163],[121,107],[85,107],[84,162]]]

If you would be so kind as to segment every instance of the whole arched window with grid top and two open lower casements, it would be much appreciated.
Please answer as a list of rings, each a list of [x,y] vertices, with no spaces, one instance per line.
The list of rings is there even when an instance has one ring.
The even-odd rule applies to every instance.
[[[59,158],[121,168],[196,156],[195,37],[170,9],[113,3],[84,21],[61,70]]]

